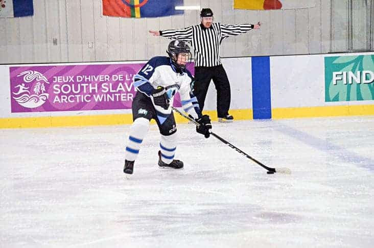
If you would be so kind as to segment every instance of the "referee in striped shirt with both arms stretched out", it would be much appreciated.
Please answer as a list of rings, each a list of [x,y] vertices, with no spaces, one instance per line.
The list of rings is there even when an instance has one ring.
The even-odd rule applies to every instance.
[[[200,24],[184,29],[152,31],[155,36],[189,41],[195,50],[195,84],[194,95],[204,108],[209,83],[217,89],[217,116],[220,122],[232,122],[233,117],[228,114],[231,93],[230,84],[222,66],[220,58],[220,44],[229,36],[244,34],[251,29],[259,29],[261,24],[224,25],[213,22],[213,11],[209,8],[200,12]]]

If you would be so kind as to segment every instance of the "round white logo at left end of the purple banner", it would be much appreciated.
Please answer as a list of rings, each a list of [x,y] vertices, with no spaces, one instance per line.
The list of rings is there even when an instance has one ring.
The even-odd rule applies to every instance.
[[[37,71],[24,71],[17,75],[22,77],[22,81],[14,86],[12,98],[21,106],[26,108],[36,108],[45,103],[49,94],[46,92],[48,80]]]

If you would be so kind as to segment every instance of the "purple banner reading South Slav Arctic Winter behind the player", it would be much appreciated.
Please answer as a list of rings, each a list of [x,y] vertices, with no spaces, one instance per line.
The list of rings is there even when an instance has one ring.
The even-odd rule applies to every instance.
[[[131,109],[133,77],[144,64],[12,66],[11,112]]]

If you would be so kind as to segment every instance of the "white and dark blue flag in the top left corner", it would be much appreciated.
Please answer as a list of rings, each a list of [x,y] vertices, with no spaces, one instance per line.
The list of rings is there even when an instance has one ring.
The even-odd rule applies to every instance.
[[[34,15],[33,0],[0,0],[0,17]]]

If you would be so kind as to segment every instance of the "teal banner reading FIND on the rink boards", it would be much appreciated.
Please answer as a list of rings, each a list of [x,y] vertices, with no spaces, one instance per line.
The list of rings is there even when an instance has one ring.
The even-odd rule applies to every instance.
[[[374,55],[324,58],[325,102],[374,100]]]

